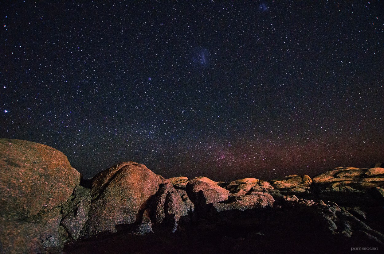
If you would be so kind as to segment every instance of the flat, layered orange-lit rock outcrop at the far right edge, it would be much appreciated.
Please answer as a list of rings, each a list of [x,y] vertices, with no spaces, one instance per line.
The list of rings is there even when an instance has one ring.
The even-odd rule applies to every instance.
[[[339,205],[377,205],[382,198],[376,187],[384,187],[383,174],[384,168],[339,167],[315,176],[313,185],[323,200]]]

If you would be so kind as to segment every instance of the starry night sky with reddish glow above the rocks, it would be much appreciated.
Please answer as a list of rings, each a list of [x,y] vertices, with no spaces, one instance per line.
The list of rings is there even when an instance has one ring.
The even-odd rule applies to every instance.
[[[57,2],[0,3],[0,137],[85,178],[384,162],[384,2]]]

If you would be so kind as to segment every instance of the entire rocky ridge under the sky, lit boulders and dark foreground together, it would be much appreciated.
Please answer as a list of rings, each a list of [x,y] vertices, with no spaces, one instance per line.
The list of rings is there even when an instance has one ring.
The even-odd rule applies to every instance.
[[[210,253],[322,253],[303,241],[383,246],[382,166],[227,183],[164,179],[145,165],[122,162],[80,185],[81,175],[58,150],[0,139],[0,253],[60,253],[65,244],[75,253],[85,239],[114,241],[121,234],[137,241],[187,234],[191,245],[175,243],[175,253],[196,252],[193,239],[203,236]],[[218,245],[210,249],[213,241]]]

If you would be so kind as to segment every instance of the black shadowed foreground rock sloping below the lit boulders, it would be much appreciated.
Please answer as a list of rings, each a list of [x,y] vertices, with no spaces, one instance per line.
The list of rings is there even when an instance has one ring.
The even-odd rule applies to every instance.
[[[223,213],[232,218],[225,222],[200,218],[185,231],[172,234],[160,231],[138,237],[116,233],[72,242],[65,253],[327,254],[350,253],[356,246],[383,247],[377,242],[381,234],[376,229],[360,224],[346,209],[332,203],[290,196],[274,208]]]

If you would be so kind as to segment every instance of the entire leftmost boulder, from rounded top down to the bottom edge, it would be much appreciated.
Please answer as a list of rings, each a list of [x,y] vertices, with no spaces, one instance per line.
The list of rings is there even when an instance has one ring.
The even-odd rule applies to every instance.
[[[2,253],[58,252],[61,206],[80,174],[60,151],[24,140],[0,139]]]

